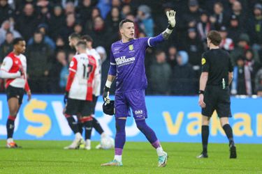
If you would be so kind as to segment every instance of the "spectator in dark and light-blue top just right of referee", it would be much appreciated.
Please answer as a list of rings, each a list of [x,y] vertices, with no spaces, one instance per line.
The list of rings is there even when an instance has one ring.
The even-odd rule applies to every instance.
[[[245,65],[245,57],[239,56],[233,70],[231,86],[233,95],[252,95],[252,79],[249,67]]]

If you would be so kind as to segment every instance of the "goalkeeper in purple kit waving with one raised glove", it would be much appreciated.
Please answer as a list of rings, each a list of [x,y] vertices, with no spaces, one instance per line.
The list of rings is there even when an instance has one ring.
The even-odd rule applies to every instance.
[[[134,38],[134,24],[130,19],[119,22],[122,40],[112,44],[110,52],[110,70],[103,91],[103,99],[109,103],[109,90],[116,79],[115,91],[115,158],[101,166],[122,166],[122,150],[126,141],[126,118],[130,116],[129,108],[140,131],[145,134],[159,156],[159,167],[166,166],[168,155],[163,151],[154,131],[147,125],[147,109],[145,106],[145,50],[167,40],[175,27],[175,11],[166,12],[168,28],[154,38]]]

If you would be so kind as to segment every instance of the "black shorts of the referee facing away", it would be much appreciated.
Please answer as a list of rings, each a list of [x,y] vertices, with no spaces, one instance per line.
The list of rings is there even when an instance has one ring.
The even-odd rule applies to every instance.
[[[232,117],[228,86],[225,89],[222,89],[221,86],[207,86],[205,88],[204,102],[206,106],[202,109],[203,116],[211,117],[214,110],[216,110],[219,118]]]

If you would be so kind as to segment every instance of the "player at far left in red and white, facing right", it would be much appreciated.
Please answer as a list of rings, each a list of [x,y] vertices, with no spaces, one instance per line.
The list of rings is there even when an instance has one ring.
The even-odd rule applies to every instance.
[[[31,100],[31,90],[27,83],[27,58],[23,55],[26,43],[23,38],[13,40],[13,52],[3,59],[0,78],[6,79],[6,95],[8,100],[9,116],[6,122],[7,148],[19,148],[13,141],[15,118],[22,104],[24,90],[28,100]]]

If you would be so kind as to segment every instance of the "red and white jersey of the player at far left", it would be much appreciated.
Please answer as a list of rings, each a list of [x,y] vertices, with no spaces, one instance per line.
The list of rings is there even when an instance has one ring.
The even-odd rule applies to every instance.
[[[27,58],[23,54],[16,56],[13,52],[10,52],[10,54],[3,59],[1,71],[16,73],[20,69],[24,71],[24,76],[15,79],[6,79],[6,88],[9,85],[16,88],[24,88],[27,83]]]

